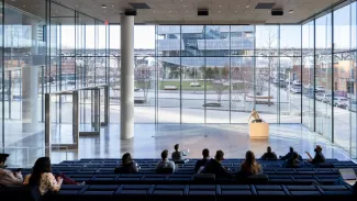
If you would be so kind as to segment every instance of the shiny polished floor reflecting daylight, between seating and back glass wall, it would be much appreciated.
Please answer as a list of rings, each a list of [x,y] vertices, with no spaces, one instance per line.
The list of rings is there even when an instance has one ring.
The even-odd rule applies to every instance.
[[[57,126],[59,127],[59,125]],[[53,143],[70,143],[70,125],[54,129]],[[64,132],[65,131],[65,132]],[[222,149],[225,158],[243,158],[246,150],[254,150],[260,157],[267,146],[271,146],[277,155],[283,155],[289,146],[293,146],[304,158],[304,152],[313,154],[316,144],[324,147],[327,158],[349,159],[347,154],[331,145],[323,136],[309,132],[300,124],[270,124],[268,139],[250,139],[247,124],[135,124],[133,139],[120,139],[120,126],[111,124],[101,130],[100,136],[80,137],[78,150],[52,150],[52,161],[78,158],[120,158],[129,152],[134,158],[158,158],[163,149],[171,152],[175,144],[182,149],[190,149],[192,158],[200,158],[203,148]],[[12,146],[24,147],[7,149],[11,153],[9,164],[12,166],[32,166],[35,159],[45,155],[44,134],[29,136]]]

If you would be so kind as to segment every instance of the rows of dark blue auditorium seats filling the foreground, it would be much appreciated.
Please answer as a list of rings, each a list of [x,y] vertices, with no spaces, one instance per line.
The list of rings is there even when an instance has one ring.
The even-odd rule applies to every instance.
[[[193,167],[197,159],[178,165],[175,174],[156,174],[155,167],[159,159],[135,159],[141,169],[138,174],[114,174],[114,167],[120,159],[87,158],[80,160],[65,160],[54,164],[53,172],[63,172],[71,179],[86,186],[66,186],[57,193],[47,194],[44,200],[205,200],[228,201],[238,199],[249,200],[300,200],[303,197],[315,200],[352,200],[349,186],[335,185],[339,172],[337,168],[354,168],[353,161],[328,159],[328,166],[313,167],[304,163],[300,168],[282,168],[280,160],[258,160],[266,183],[239,183],[235,179],[220,179],[208,177],[197,179]],[[223,165],[236,171],[243,159],[225,159]],[[332,166],[334,168],[332,168]],[[324,168],[325,167],[325,168]],[[24,168],[23,175],[31,169]],[[0,194],[21,197],[19,189],[1,189]],[[16,194],[15,197],[13,194]],[[25,193],[22,193],[25,194]],[[8,198],[8,197],[5,197]],[[1,199],[2,200],[2,199]],[[25,199],[19,199],[25,200]]]

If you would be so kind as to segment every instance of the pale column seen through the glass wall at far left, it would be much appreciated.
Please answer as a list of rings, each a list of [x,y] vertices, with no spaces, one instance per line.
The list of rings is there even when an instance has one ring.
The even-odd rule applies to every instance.
[[[22,132],[35,132],[38,125],[38,30],[37,22],[31,22],[31,63],[22,68]]]

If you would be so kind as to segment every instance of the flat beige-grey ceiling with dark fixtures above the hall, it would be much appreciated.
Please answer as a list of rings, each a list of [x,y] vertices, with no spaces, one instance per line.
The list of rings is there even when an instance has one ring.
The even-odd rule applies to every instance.
[[[150,9],[138,10],[135,23],[145,24],[263,24],[298,23],[341,0],[57,0],[90,16],[109,23],[120,23],[120,13],[131,9],[131,2],[144,2]],[[270,10],[255,9],[258,2],[274,2],[283,9],[283,16],[271,16]],[[45,0],[5,0],[5,3],[42,18]],[[102,4],[107,9],[101,8]],[[198,9],[209,9],[209,16],[198,16]],[[293,13],[289,13],[293,10]],[[75,16],[69,9],[52,3],[52,15]],[[74,21],[67,19],[67,21]]]

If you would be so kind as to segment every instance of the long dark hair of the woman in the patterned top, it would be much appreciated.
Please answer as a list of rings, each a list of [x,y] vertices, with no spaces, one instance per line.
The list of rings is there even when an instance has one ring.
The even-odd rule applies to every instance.
[[[41,157],[35,161],[32,168],[29,185],[38,186],[42,174],[51,172],[51,159],[49,157]]]

